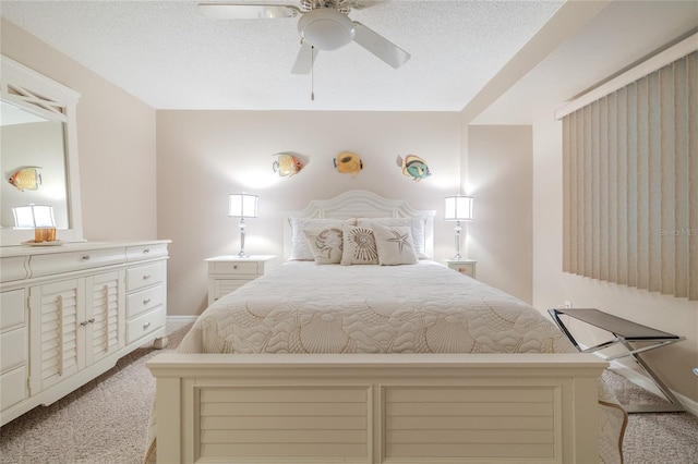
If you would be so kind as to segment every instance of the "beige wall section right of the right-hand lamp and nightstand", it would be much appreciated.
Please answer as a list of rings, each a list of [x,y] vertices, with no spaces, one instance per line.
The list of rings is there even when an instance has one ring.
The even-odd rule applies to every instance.
[[[468,183],[476,197],[468,257],[478,280],[524,300],[532,294],[532,134],[528,125],[471,125]]]

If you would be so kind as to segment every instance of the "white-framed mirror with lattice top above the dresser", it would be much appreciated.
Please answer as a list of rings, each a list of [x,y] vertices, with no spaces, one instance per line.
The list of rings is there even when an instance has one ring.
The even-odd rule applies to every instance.
[[[33,230],[14,228],[12,208],[53,208],[57,240],[82,241],[73,90],[7,57],[0,74],[0,244],[20,245]]]

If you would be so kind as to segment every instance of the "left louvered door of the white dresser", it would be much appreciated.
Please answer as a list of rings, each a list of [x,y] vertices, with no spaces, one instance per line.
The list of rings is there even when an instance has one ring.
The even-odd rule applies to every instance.
[[[85,366],[85,280],[70,279],[29,289],[32,394]]]

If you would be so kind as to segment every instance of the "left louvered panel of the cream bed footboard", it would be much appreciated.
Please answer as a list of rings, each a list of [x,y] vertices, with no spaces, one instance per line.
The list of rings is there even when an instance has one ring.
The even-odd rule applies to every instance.
[[[195,395],[202,460],[370,460],[369,387],[198,388]]]

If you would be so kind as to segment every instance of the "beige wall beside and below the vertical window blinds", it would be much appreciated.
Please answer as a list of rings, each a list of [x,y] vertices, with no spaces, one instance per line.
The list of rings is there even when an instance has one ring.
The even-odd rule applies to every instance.
[[[533,127],[533,304],[553,308],[599,308],[649,327],[686,337],[686,341],[647,352],[642,357],[678,393],[698,401],[698,303],[645,290],[601,282],[562,271],[562,125]],[[610,334],[571,323],[578,341],[593,345]],[[627,364],[627,363],[626,363]],[[634,366],[630,366],[634,367]]]

